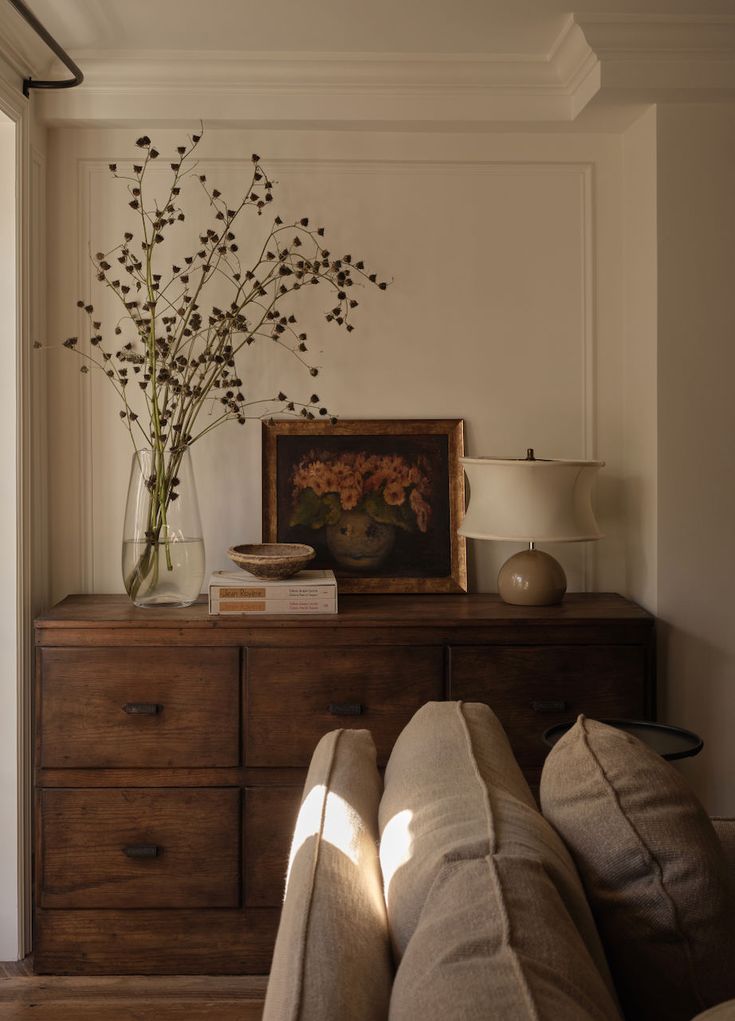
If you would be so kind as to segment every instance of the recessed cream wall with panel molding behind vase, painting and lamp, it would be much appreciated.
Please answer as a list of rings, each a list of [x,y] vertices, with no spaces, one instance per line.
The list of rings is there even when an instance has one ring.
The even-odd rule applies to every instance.
[[[105,250],[126,229],[126,199],[106,167],[135,157],[143,130],[50,132],[52,344],[83,328],[75,302],[93,293],[88,242]],[[149,134],[164,154],[181,140]],[[216,131],[203,150],[209,180],[237,195],[253,149],[287,212],[324,222],[333,250],[359,251],[394,279],[384,294],[363,295],[350,336],[314,306],[321,396],[343,417],[463,418],[474,454],[535,446],[604,458],[597,506],[607,538],[555,552],[572,590],[625,590],[620,138]],[[104,299],[94,301],[109,322]],[[311,392],[309,378],[262,355],[253,391]],[[68,352],[50,352],[54,599],[121,589],[131,451],[113,398]],[[228,545],[260,536],[259,428],[215,431],[194,460],[208,568],[226,567]],[[494,589],[507,551],[472,544],[472,588]]]

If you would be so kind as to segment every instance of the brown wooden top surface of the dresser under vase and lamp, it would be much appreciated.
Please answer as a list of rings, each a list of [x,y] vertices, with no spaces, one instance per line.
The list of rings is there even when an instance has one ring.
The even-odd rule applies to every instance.
[[[47,628],[314,628],[462,627],[527,621],[583,624],[591,621],[652,621],[647,611],[610,592],[573,592],[555,606],[511,606],[493,593],[445,595],[341,595],[338,614],[209,616],[206,598],[186,607],[135,606],[125,595],[68,595],[36,621]]]

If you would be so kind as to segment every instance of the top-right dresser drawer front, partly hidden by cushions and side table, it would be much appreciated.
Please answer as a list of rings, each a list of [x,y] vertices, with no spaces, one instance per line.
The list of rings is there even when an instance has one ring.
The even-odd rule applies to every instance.
[[[540,766],[543,732],[580,713],[640,719],[646,707],[640,645],[484,645],[451,649],[450,697],[493,710],[522,766]]]

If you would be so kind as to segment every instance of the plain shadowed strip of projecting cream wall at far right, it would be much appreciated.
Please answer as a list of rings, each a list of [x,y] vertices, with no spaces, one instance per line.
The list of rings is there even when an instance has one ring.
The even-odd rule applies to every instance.
[[[665,719],[735,814],[735,105],[663,106],[658,148],[658,615]]]

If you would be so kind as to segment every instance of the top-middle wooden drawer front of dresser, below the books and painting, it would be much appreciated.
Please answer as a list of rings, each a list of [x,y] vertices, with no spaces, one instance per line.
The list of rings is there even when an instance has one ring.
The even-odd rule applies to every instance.
[[[385,765],[396,737],[426,701],[443,697],[441,648],[248,650],[248,766],[307,766],[338,727],[373,733]]]

